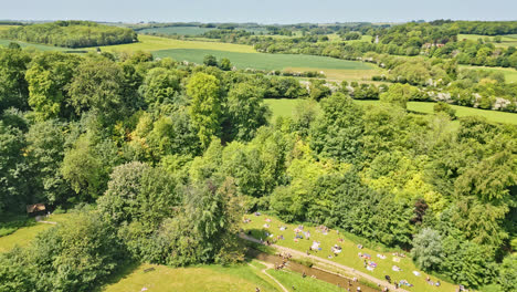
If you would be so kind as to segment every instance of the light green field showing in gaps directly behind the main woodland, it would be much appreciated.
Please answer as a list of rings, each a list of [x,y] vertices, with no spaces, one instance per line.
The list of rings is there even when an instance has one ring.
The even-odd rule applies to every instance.
[[[265,100],[264,101],[273,112],[273,119],[278,116],[284,117],[292,117],[293,111],[296,107],[297,100]],[[379,101],[360,101],[355,100],[356,103],[362,105],[378,105]],[[423,114],[432,114],[433,106],[435,103],[432,102],[409,102],[408,109],[423,113]],[[498,111],[487,111],[487,109],[479,109],[466,106],[458,106],[458,105],[451,105],[454,109],[456,109],[456,116],[483,116],[489,122],[496,123],[506,123],[517,125],[517,114],[514,113],[506,113],[506,112],[498,112]]]

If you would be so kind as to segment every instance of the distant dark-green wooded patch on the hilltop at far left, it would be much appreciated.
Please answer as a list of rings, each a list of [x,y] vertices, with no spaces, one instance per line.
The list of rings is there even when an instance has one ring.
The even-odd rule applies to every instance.
[[[136,32],[130,29],[89,21],[55,21],[22,25],[0,32],[0,38],[72,49],[138,41]]]

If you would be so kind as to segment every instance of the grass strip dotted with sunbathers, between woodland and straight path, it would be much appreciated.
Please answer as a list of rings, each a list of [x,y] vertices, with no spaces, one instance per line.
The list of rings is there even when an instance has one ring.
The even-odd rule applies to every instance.
[[[358,271],[369,273],[378,279],[384,279],[384,275],[389,274],[392,280],[407,280],[409,283],[413,284],[414,286],[409,288],[404,286],[405,290],[408,291],[419,291],[419,292],[436,292],[436,291],[454,291],[454,285],[452,283],[441,281],[441,286],[432,286],[425,282],[425,277],[426,274],[422,271],[420,271],[412,262],[411,258],[405,257],[405,258],[398,258],[400,259],[399,262],[394,262],[393,259],[395,257],[392,255],[391,252],[394,250],[391,250],[391,252],[388,252],[387,249],[384,248],[376,248],[369,249],[369,248],[363,248],[359,249],[357,248],[357,244],[366,244],[365,242],[361,242],[361,240],[357,239],[357,237],[352,234],[347,234],[347,233],[337,233],[336,230],[330,230],[327,236],[323,234],[321,232],[317,232],[316,228],[314,227],[308,227],[305,226],[304,230],[310,232],[310,240],[307,239],[300,239],[298,242],[294,241],[294,229],[297,227],[297,225],[288,225],[284,223],[277,218],[273,216],[260,216],[255,217],[253,215],[249,215],[247,218],[252,220],[252,222],[246,223],[243,226],[244,231],[252,231],[252,236],[255,238],[262,238],[263,240],[266,239],[265,232],[270,232],[273,234],[273,238],[276,238],[276,236],[283,234],[285,240],[278,240],[276,244],[295,249],[302,252],[306,252],[309,250],[309,247],[313,244],[313,241],[320,241],[320,248],[321,250],[318,252],[314,252],[312,254],[325,258],[331,253],[330,248],[334,244],[339,244],[342,248],[342,252],[335,258],[331,258],[331,261],[335,261],[337,263],[354,268]],[[263,226],[266,223],[265,219],[270,218],[272,221],[267,222],[270,225],[270,228],[264,228]],[[287,229],[285,231],[281,231],[279,227],[285,226]],[[344,239],[342,242],[338,241],[338,238]],[[351,240],[350,238],[355,238],[355,240]],[[371,255],[371,260],[376,262],[378,265],[373,271],[368,271],[365,265],[363,265],[363,259],[358,257],[358,253],[368,253]],[[401,252],[398,250],[398,252]],[[386,259],[380,259],[377,257],[377,254],[383,254],[387,258]],[[395,272],[392,270],[393,265],[398,265],[399,268],[402,269],[400,272]],[[416,277],[413,274],[413,271],[419,271],[421,273],[420,277]],[[436,281],[437,279],[435,277],[430,277],[432,281]]]

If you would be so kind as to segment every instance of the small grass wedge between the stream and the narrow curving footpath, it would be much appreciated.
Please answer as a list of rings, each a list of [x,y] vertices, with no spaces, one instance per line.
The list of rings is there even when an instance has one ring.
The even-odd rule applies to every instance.
[[[292,272],[288,270],[267,270],[267,273],[273,275],[278,282],[281,282],[287,290],[293,292],[344,292],[342,289],[337,285],[313,279],[302,278],[299,273]],[[292,288],[296,290],[293,290]]]

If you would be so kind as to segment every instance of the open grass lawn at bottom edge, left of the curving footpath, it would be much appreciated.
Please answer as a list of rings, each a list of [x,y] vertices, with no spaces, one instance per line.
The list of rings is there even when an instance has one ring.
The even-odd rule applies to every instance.
[[[144,270],[154,268],[154,271]],[[148,292],[226,292],[226,291],[279,291],[279,286],[265,280],[261,268],[247,264],[232,267],[199,265],[190,268],[170,268],[166,265],[144,263],[125,275],[120,281],[106,285],[105,292],[141,291]]]

